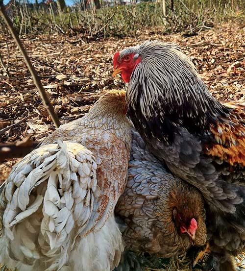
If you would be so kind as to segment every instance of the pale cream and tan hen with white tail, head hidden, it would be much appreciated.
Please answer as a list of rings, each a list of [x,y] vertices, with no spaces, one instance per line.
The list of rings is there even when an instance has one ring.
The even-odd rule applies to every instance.
[[[18,271],[117,266],[123,243],[114,209],[131,150],[125,106],[124,91],[106,93],[16,164],[0,196],[1,263]]]

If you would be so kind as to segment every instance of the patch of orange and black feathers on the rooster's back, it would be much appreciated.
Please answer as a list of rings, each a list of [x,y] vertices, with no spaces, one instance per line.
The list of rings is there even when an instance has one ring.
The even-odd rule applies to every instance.
[[[204,144],[204,153],[220,163],[225,162],[226,174],[232,174],[230,180],[245,181],[245,103],[225,103],[229,107],[230,114],[227,118],[221,118],[219,122],[210,125],[213,137],[212,143]],[[241,178],[238,172],[241,174]]]

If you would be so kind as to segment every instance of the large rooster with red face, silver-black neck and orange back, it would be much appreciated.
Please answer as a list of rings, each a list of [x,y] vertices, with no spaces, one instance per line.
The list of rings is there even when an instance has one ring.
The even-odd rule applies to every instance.
[[[205,198],[205,270],[234,271],[245,246],[245,104],[211,96],[177,45],[146,41],[114,56],[127,112],[148,148]]]

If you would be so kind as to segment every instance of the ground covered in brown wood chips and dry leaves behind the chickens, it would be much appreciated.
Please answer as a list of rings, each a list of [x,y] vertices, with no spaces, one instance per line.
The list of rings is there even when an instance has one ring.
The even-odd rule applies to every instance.
[[[192,37],[181,33],[162,35],[149,29],[139,31],[137,38],[89,41],[82,35],[40,35],[28,36],[23,42],[55,112],[61,123],[67,123],[82,117],[106,90],[124,88],[120,77],[113,80],[111,76],[112,57],[116,51],[147,39],[177,43],[217,99],[245,100],[245,23],[238,20],[215,25]],[[9,77],[0,66],[0,143],[15,143],[27,136],[42,141],[54,125],[10,36],[0,36],[0,54],[5,67],[9,62]],[[0,164],[0,182],[16,161]],[[185,256],[161,265],[161,270],[166,271],[191,270]],[[243,268],[241,261],[240,269]]]

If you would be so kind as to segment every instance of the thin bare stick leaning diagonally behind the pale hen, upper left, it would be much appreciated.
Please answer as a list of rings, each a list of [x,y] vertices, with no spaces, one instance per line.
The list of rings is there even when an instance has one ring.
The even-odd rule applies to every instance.
[[[47,94],[46,94],[46,92],[45,92],[45,90],[44,90],[44,88],[42,86],[42,83],[40,81],[39,76],[37,75],[37,72],[36,72],[35,68],[32,66],[32,64],[30,62],[30,59],[29,59],[29,57],[28,57],[28,55],[27,55],[27,53],[25,51],[24,46],[21,43],[20,38],[18,37],[18,35],[17,35],[11,21],[9,20],[9,18],[8,18],[6,12],[5,12],[5,8],[4,8],[2,0],[0,0],[0,14],[3,17],[6,25],[8,26],[9,31],[11,32],[13,38],[15,39],[15,41],[16,41],[22,55],[24,56],[27,67],[28,67],[28,69],[29,69],[29,71],[30,71],[30,73],[32,75],[33,82],[34,82],[34,84],[36,85],[36,87],[37,87],[37,89],[39,91],[39,94],[40,94],[40,96],[41,96],[41,98],[42,98],[42,100],[44,102],[45,107],[47,108],[47,110],[48,110],[48,112],[49,112],[49,114],[50,114],[50,116],[52,118],[52,121],[53,121],[54,125],[58,128],[60,126],[59,119],[58,119],[57,115],[54,112],[53,106],[50,103],[50,100],[49,100],[49,98],[48,98],[48,96],[47,96]]]

